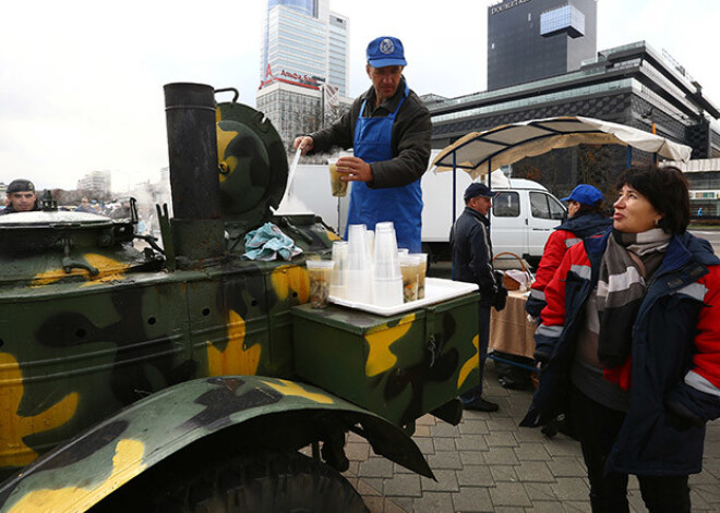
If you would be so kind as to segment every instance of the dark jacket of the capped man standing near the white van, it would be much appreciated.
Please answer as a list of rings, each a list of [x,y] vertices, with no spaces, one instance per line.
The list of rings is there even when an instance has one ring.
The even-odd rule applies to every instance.
[[[497,293],[493,274],[490,221],[479,211],[465,207],[451,232],[453,280],[477,283],[481,303],[492,305]]]

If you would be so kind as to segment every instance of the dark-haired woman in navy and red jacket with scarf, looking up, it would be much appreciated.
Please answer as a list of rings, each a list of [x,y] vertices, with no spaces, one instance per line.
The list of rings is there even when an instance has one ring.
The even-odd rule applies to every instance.
[[[540,383],[520,426],[565,414],[593,513],[689,513],[705,424],[720,416],[720,259],[687,232],[677,168],[626,171],[613,230],[565,254],[535,333]]]

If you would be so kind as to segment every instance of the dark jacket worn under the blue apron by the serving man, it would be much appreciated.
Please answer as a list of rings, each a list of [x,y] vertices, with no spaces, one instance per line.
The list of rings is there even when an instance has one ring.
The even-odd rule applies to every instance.
[[[363,100],[368,100],[363,117],[386,117],[397,109],[405,90],[405,77],[400,80],[395,96],[375,107],[375,89],[370,87],[358,97],[346,112],[331,127],[311,134],[313,149],[309,155],[326,154],[336,147],[351,148],[355,139],[355,125],[360,114]],[[430,160],[430,136],[432,123],[430,112],[418,95],[410,90],[403,102],[393,124],[393,159],[373,162],[373,180],[370,188],[399,187],[415,182],[428,169]]]

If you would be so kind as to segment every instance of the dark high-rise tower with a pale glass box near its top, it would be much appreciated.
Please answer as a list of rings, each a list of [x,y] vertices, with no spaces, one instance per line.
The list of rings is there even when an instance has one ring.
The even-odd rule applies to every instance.
[[[488,8],[488,90],[575,71],[597,51],[597,0],[503,0]]]

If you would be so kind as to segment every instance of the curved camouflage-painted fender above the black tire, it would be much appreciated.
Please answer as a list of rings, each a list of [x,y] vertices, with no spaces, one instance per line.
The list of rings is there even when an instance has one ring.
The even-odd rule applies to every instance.
[[[56,448],[0,485],[0,512],[86,511],[200,439],[264,415],[303,410],[348,418],[362,427],[376,453],[433,477],[412,439],[367,410],[310,384],[223,376],[154,393]]]

